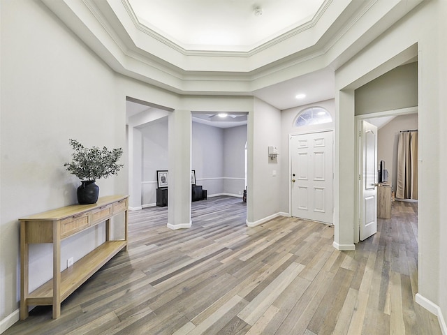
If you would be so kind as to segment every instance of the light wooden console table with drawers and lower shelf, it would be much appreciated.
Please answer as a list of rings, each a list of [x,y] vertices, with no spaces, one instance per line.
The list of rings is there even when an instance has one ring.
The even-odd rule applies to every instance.
[[[73,204],[20,218],[20,319],[28,306],[52,305],[53,319],[61,315],[61,302],[119,251],[127,251],[128,196],[99,198],[96,204]],[[124,239],[110,239],[110,218],[124,212]],[[61,240],[105,221],[105,243],[61,272]],[[53,244],[53,278],[29,292],[29,244]]]

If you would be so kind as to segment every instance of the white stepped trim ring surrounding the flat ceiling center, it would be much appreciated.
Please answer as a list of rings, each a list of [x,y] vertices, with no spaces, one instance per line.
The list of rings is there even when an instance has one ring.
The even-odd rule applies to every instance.
[[[177,94],[242,96],[328,66],[335,70],[423,0],[325,1],[306,29],[249,52],[184,50],[151,37],[127,0],[42,1],[117,73]]]

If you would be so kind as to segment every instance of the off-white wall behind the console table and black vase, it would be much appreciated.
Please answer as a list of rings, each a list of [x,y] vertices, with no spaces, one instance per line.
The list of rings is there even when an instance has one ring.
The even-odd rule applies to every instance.
[[[115,81],[42,3],[1,1],[0,320],[20,299],[17,219],[76,202],[79,181],[63,166],[72,153],[68,139],[88,147],[126,145]],[[97,184],[100,196],[125,194],[126,168]],[[78,259],[99,242],[95,232],[67,239],[61,267],[68,255]],[[30,247],[31,290],[51,278],[51,251],[50,244]]]

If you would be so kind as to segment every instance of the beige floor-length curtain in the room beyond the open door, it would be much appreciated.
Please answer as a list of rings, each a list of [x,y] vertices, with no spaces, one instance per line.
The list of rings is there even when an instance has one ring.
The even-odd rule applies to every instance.
[[[418,131],[399,134],[396,198],[418,199]]]

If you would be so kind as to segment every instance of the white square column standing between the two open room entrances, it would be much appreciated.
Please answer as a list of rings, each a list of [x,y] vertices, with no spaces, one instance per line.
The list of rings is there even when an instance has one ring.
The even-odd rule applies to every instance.
[[[169,114],[168,228],[191,227],[191,112]]]

